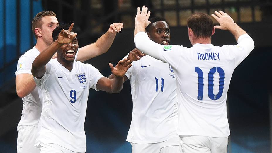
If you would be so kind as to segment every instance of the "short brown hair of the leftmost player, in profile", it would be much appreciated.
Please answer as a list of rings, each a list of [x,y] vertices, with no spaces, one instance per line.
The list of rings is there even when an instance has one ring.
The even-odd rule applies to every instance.
[[[31,23],[32,32],[33,32],[36,39],[38,38],[38,36],[35,33],[35,28],[41,28],[41,29],[43,28],[42,19],[45,16],[55,16],[56,17],[56,13],[53,11],[42,11],[42,12],[39,12],[38,14],[36,14],[36,16],[33,18],[32,23]]]

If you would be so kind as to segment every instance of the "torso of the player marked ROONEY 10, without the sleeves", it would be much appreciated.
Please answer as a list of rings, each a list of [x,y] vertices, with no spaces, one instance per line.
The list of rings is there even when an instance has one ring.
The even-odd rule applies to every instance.
[[[181,102],[178,134],[228,136],[226,98],[234,69],[229,52],[220,47],[196,44],[186,50],[175,70]]]

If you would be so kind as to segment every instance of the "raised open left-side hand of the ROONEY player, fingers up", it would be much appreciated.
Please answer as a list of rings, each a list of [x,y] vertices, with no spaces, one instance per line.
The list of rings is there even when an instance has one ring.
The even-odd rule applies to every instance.
[[[142,7],[142,12],[140,7],[137,8],[137,15],[135,17],[135,26],[143,26],[144,28],[147,27],[151,22],[148,21],[150,16],[150,11],[148,11],[147,7]]]

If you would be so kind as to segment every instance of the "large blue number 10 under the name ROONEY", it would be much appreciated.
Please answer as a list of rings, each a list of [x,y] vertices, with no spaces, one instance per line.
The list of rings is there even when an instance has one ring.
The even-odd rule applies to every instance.
[[[195,67],[195,72],[198,74],[198,100],[203,98],[203,72],[199,67]],[[217,95],[213,94],[213,75],[219,73],[219,91]],[[213,67],[208,73],[208,96],[211,100],[219,99],[223,94],[225,72],[221,67]]]

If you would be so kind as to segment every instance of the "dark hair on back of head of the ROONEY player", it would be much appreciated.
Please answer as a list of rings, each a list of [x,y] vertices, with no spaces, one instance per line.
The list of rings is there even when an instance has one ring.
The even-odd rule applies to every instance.
[[[213,19],[204,13],[194,13],[187,19],[187,26],[193,30],[197,38],[212,36]]]

